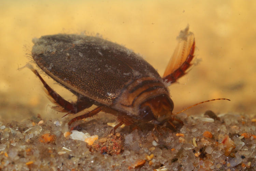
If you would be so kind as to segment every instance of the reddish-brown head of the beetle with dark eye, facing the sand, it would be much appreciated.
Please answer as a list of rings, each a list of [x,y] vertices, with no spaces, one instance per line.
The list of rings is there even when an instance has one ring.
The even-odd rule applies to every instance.
[[[173,101],[167,95],[156,96],[140,106],[140,119],[145,122],[163,123],[172,115]]]

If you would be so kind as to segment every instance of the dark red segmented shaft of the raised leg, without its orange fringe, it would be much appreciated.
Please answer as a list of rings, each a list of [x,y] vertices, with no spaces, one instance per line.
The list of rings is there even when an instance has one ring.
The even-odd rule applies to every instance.
[[[177,81],[177,79],[181,78],[181,76],[183,76],[185,74],[185,71],[191,66],[190,62],[192,61],[192,59],[194,57],[194,51],[195,51],[195,41],[193,42],[193,45],[192,45],[190,52],[186,58],[186,61],[174,72],[165,76],[163,78],[163,81],[165,81],[167,83],[174,83]]]

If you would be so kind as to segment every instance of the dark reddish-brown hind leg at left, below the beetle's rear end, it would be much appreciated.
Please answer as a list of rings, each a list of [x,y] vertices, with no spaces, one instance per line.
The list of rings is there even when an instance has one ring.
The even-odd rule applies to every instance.
[[[68,114],[76,114],[91,105],[93,105],[92,102],[88,100],[86,97],[80,97],[75,103],[71,103],[65,99],[63,99],[56,91],[54,91],[41,77],[41,75],[37,72],[37,70],[33,69],[32,67],[29,67],[35,75],[38,76],[40,81],[43,83],[46,93],[48,94],[48,97],[51,97],[51,101],[56,104],[57,106],[53,106],[52,108],[57,110],[58,112],[68,112]]]

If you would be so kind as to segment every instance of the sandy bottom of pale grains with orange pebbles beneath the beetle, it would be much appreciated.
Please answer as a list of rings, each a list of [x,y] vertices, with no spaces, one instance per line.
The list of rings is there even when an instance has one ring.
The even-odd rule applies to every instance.
[[[1,123],[1,170],[255,170],[254,118],[212,112],[191,117],[176,131],[138,123],[110,134],[115,117],[102,113],[77,121],[32,117]],[[170,127],[171,128],[171,127]],[[73,133],[78,133],[74,135]],[[112,131],[113,133],[113,131]],[[91,136],[91,137],[90,137]],[[93,142],[93,137],[98,137]],[[77,140],[80,139],[80,140]],[[86,139],[86,142],[84,141]],[[137,169],[138,168],[138,169]]]

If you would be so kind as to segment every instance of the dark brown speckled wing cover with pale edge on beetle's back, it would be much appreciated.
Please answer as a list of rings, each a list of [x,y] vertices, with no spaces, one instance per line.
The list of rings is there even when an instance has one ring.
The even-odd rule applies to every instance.
[[[153,76],[161,81],[138,54],[98,37],[57,34],[33,42],[32,56],[44,72],[73,92],[105,105],[136,78]]]

